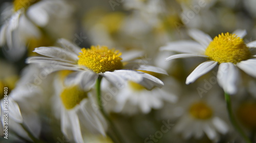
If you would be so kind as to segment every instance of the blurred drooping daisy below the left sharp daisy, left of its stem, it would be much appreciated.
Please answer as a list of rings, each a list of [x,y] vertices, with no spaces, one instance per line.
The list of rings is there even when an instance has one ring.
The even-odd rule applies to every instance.
[[[61,131],[68,139],[83,142],[84,129],[105,136],[107,123],[93,105],[97,103],[91,92],[84,92],[79,85],[65,87],[63,81],[72,71],[60,71],[54,81],[54,115],[61,122]],[[86,139],[86,138],[85,138]]]

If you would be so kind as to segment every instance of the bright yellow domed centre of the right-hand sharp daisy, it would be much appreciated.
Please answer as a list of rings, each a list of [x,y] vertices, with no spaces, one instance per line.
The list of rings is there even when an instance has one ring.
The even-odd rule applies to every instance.
[[[237,64],[250,58],[249,48],[243,39],[235,34],[225,33],[216,36],[205,50],[210,60],[220,63]]]

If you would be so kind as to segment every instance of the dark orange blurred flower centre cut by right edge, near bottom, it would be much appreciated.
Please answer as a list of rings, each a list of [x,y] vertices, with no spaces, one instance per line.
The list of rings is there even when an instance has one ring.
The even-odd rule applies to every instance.
[[[238,108],[238,118],[247,128],[256,129],[256,102],[246,102]]]

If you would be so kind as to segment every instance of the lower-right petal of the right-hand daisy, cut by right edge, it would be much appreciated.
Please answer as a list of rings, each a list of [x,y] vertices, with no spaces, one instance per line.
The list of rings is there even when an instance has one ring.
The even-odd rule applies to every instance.
[[[237,66],[250,76],[256,77],[256,59],[249,59],[237,63]]]

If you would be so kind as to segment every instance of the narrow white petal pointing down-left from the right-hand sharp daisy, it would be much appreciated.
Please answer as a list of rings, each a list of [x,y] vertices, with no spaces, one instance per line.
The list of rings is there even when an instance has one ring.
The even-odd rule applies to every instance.
[[[188,75],[188,77],[186,79],[186,84],[196,81],[200,76],[209,72],[217,64],[218,64],[218,62],[215,62],[215,61],[207,61],[207,62],[200,64],[193,72],[191,72]]]

